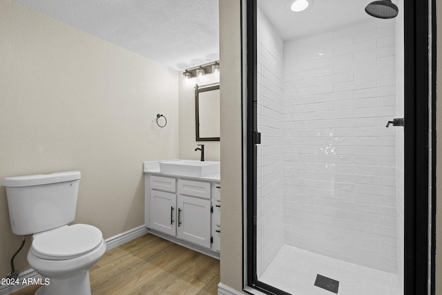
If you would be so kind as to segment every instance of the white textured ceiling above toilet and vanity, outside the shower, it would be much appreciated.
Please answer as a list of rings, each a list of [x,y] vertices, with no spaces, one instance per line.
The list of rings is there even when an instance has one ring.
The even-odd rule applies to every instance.
[[[14,0],[182,70],[219,59],[218,0]]]

